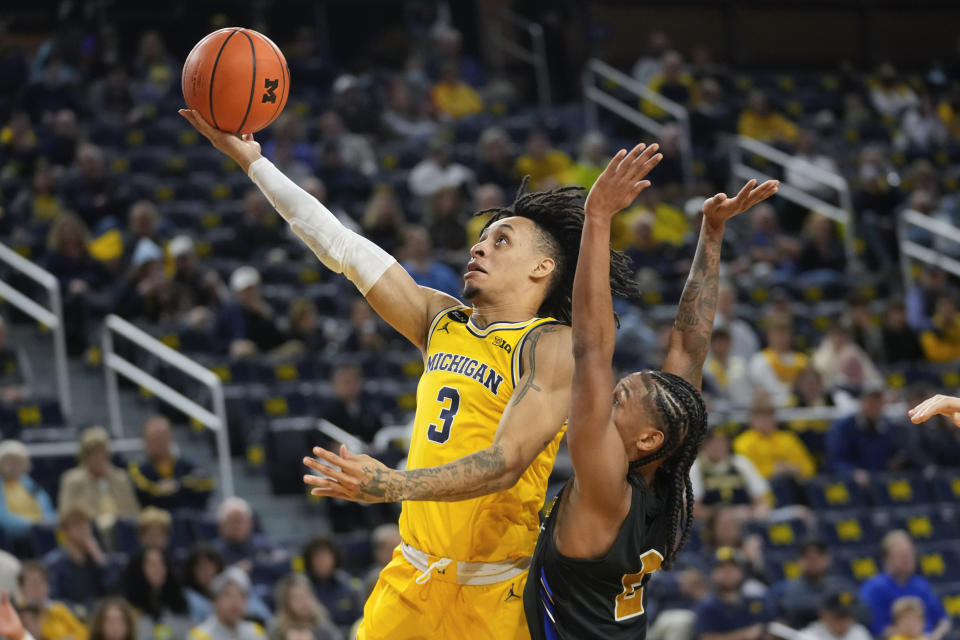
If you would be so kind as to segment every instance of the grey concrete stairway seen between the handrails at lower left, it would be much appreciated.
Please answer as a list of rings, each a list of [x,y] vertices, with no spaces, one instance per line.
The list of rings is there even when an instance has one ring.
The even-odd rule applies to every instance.
[[[9,331],[10,343],[22,346],[28,354],[32,368],[31,389],[37,394],[55,397],[56,370],[50,336],[41,333],[32,323],[10,323]],[[78,430],[92,425],[106,427],[108,417],[102,368],[91,367],[77,358],[71,358],[69,366],[74,414],[70,426]],[[138,437],[140,425],[154,410],[153,403],[145,401],[135,389],[121,386],[120,404],[124,437]],[[207,446],[205,434],[197,433],[185,424],[175,425],[175,434],[182,451],[198,464],[216,472],[215,452]],[[231,464],[236,494],[250,502],[264,533],[272,539],[298,547],[311,535],[329,530],[325,509],[303,496],[272,495],[263,471],[251,471],[242,459],[235,458]],[[217,495],[211,499],[211,515],[219,501]]]

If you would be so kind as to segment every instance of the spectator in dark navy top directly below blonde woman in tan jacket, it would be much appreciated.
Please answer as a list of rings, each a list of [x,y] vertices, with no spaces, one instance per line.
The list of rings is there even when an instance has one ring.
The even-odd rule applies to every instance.
[[[93,515],[84,504],[61,504],[60,541],[60,547],[43,558],[51,595],[84,606],[107,595],[114,567],[93,533]]]

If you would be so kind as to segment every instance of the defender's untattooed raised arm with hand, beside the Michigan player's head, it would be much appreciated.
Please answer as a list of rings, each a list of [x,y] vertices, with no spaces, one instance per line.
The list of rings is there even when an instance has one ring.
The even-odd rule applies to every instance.
[[[629,460],[613,423],[613,351],[616,326],[610,293],[611,219],[650,186],[643,178],[662,156],[657,145],[621,150],[597,179],[584,204],[586,219],[573,280],[573,387],[567,446],[577,500],[602,522],[629,508]]]

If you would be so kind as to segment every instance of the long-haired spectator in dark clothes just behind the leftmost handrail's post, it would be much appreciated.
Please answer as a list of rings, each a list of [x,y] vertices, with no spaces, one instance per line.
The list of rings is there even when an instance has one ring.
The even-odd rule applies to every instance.
[[[50,225],[47,252],[40,261],[60,282],[63,312],[70,318],[64,330],[71,355],[82,352],[86,346],[89,294],[103,281],[103,269],[87,249],[89,242],[90,233],[83,220],[72,213],[62,213]]]

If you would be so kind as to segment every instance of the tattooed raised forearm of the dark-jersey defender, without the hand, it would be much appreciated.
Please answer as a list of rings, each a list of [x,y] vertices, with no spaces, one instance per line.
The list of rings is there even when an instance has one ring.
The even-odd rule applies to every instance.
[[[719,284],[720,249],[722,234],[700,233],[697,251],[690,267],[690,275],[680,296],[674,331],[679,332],[684,352],[690,359],[689,369],[683,377],[699,383],[703,363],[710,350],[710,334],[713,332],[713,317],[717,308]]]

